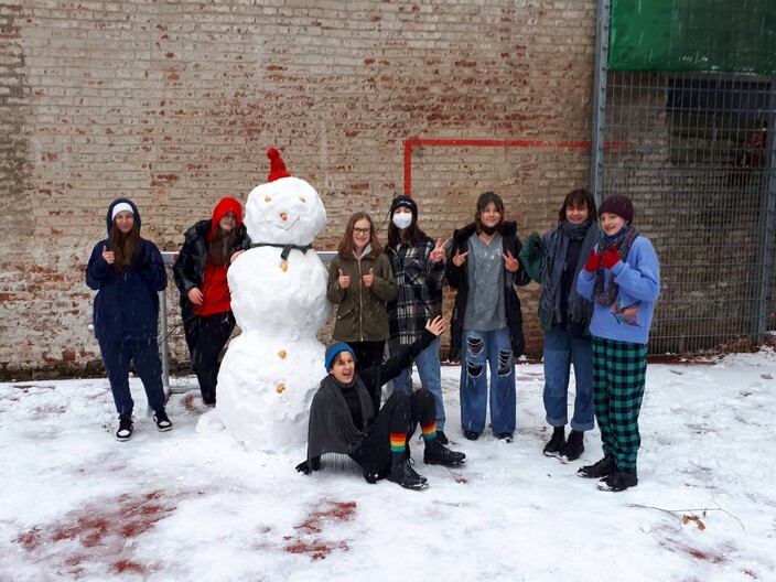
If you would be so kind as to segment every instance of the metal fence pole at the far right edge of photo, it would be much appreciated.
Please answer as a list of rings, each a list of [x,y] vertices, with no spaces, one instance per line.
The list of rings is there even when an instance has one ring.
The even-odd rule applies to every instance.
[[[768,125],[766,127],[767,155],[765,157],[763,196],[759,212],[759,236],[762,245],[757,248],[755,269],[759,270],[759,289],[755,298],[755,341],[762,342],[767,331],[768,287],[774,272],[774,254],[776,252],[776,77],[770,79],[770,103]],[[762,268],[757,268],[762,266]],[[755,280],[757,277],[755,278]]]

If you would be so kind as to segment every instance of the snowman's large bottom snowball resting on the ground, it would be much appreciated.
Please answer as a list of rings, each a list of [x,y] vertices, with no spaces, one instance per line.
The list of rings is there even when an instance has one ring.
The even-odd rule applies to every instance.
[[[233,340],[218,374],[217,411],[246,446],[279,452],[308,440],[313,395],[326,371],[317,340],[242,333]]]

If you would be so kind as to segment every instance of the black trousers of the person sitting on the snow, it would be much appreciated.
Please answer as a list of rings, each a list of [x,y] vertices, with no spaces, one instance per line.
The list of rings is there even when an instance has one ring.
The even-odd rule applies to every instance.
[[[364,468],[364,475],[385,477],[390,471],[390,435],[407,434],[407,441],[421,427],[436,420],[436,403],[433,395],[424,388],[412,395],[394,392],[377,413],[360,449],[353,453],[353,460]]]

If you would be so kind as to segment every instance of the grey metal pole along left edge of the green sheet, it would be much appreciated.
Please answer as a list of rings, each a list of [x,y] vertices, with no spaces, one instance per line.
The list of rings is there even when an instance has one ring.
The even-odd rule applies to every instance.
[[[604,173],[604,125],[606,108],[606,69],[608,68],[608,33],[611,0],[599,0],[595,31],[595,82],[593,87],[593,136],[591,148],[590,190],[601,203]]]

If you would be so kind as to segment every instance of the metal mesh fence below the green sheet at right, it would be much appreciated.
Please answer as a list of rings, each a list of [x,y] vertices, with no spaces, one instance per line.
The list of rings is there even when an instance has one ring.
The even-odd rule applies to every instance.
[[[605,22],[600,35],[593,184],[599,202],[633,198],[660,259],[650,353],[762,341],[776,330],[776,79],[607,71]]]

